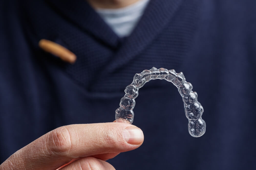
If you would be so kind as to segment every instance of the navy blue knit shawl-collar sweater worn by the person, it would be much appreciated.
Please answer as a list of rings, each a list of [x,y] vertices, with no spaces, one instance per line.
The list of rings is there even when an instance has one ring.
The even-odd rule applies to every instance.
[[[182,71],[204,107],[206,133],[188,133],[182,98],[164,80],[139,90],[143,145],[116,169],[256,169],[256,1],[151,0],[119,38],[84,0],[0,6],[0,161],[62,125],[112,122],[135,73]],[[54,41],[75,64],[38,47]]]

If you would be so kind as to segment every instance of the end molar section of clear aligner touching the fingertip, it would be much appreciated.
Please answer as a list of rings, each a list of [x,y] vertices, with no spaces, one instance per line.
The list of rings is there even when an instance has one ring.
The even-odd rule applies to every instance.
[[[126,110],[120,107],[115,111],[116,122],[132,124],[133,118],[134,118],[134,113],[132,110]]]

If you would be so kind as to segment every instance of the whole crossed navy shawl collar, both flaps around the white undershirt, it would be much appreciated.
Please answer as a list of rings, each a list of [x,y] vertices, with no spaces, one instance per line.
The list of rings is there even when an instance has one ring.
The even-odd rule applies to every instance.
[[[119,38],[85,0],[46,1],[91,36],[118,49],[112,60],[102,68],[104,70],[102,74],[105,75],[122,67],[140,54],[167,26],[183,0],[151,0],[131,35],[124,39]]]

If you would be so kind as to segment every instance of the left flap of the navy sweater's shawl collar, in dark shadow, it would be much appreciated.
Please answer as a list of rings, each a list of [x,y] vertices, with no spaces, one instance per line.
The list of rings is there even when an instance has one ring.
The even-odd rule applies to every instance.
[[[64,17],[99,41],[116,48],[120,38],[85,0],[46,0]]]

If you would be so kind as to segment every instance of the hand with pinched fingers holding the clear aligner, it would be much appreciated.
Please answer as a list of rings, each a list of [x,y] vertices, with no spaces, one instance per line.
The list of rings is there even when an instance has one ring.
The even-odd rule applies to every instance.
[[[127,123],[62,126],[15,152],[0,169],[114,169],[105,161],[143,140],[141,129]]]

